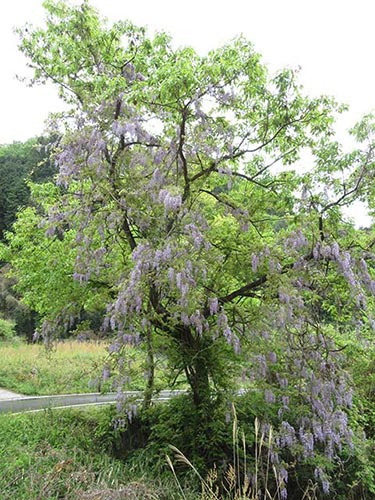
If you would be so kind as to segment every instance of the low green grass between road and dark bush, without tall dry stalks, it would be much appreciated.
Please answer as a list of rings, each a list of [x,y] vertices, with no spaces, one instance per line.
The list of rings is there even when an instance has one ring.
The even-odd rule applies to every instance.
[[[108,407],[0,415],[1,499],[181,498],[172,475],[162,484],[113,456],[111,418]]]

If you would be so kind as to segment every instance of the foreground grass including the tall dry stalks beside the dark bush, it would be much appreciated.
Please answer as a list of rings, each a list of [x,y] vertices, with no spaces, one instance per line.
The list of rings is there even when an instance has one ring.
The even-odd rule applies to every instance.
[[[181,402],[182,400],[179,404]],[[174,409],[176,408],[175,405]],[[167,413],[169,416],[175,414],[170,410]],[[184,455],[177,449],[161,445],[160,440],[158,444],[149,443],[143,450],[131,449],[131,446],[129,449],[127,445],[131,445],[134,439],[132,431],[124,434],[124,431],[116,430],[113,425],[114,415],[114,409],[110,406],[0,415],[1,500],[259,498],[258,490],[250,487],[246,469],[242,469],[242,447],[245,443],[242,438],[239,439],[236,420],[232,430],[234,466],[229,465],[225,476],[217,483],[219,476],[216,467],[202,478]],[[167,421],[163,419],[159,425],[160,423],[167,425]],[[133,430],[137,432],[137,428]],[[171,438],[172,429],[167,434]],[[265,465],[264,460],[267,463],[262,476],[259,476],[260,482],[263,482],[265,473],[269,477],[269,483],[273,485],[273,493],[267,498],[280,500],[283,483],[277,473],[271,470],[267,458],[269,442],[265,441],[263,435],[259,436],[259,430],[258,434],[255,433],[255,438],[258,443],[255,457],[258,469]],[[166,454],[171,458],[167,458]],[[181,468],[187,470],[188,474],[178,474],[177,478],[176,467],[180,471]],[[301,490],[300,496],[292,495],[292,500],[317,500],[316,487],[315,483],[309,483],[304,491]]]

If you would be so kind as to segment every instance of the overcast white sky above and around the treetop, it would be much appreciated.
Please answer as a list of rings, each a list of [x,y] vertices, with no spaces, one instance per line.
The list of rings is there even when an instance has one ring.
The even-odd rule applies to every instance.
[[[270,68],[301,66],[301,80],[309,93],[334,95],[350,105],[355,119],[375,109],[374,0],[92,0],[92,4],[111,20],[128,18],[151,30],[166,30],[177,45],[192,45],[199,52],[242,33]],[[25,74],[25,61],[12,28],[42,20],[42,0],[12,0],[2,10],[0,144],[41,133],[48,112],[59,108],[52,89],[27,88],[15,79],[15,74]]]

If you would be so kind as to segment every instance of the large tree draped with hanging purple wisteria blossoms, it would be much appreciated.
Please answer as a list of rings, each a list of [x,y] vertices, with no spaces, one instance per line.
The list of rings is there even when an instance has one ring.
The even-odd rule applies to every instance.
[[[33,230],[74,249],[65,269],[86,290],[46,319],[100,298],[120,391],[124,346],[146,344],[148,397],[162,350],[197,409],[243,377],[277,409],[280,447],[333,456],[350,441],[344,334],[373,323],[371,234],[341,212],[372,195],[372,118],[344,152],[343,108],[294,71],[270,76],[242,38],[200,56],[86,2],[44,5],[20,48],[70,111],[51,118],[59,196]]]

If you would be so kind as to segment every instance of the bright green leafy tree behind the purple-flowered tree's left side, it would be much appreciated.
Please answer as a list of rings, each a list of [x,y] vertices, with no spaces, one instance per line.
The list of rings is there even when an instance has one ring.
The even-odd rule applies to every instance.
[[[7,234],[9,248],[3,247],[2,258],[14,264],[7,275],[22,302],[45,319],[46,325],[53,324],[55,335],[65,336],[83,311],[100,312],[98,304],[107,302],[108,297],[100,294],[98,283],[73,280],[78,258],[76,231],[64,226],[52,237],[46,229],[44,219],[56,208],[61,189],[50,182],[29,183],[29,187],[30,206],[19,211],[13,231]],[[107,290],[107,283],[103,288]]]

